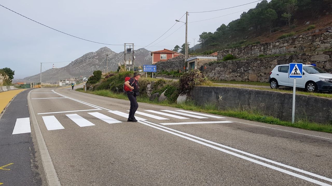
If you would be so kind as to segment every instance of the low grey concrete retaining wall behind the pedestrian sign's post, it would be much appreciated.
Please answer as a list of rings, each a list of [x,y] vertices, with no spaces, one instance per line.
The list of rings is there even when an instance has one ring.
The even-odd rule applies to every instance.
[[[219,109],[252,109],[266,115],[291,120],[292,94],[234,87],[196,86],[191,91],[199,104],[216,103]],[[296,95],[295,118],[319,123],[332,122],[332,99]]]

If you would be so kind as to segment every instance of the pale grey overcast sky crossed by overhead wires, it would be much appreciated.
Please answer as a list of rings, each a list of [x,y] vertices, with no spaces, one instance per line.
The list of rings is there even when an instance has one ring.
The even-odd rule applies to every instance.
[[[134,43],[142,48],[160,37],[186,11],[199,12],[233,7],[255,0],[2,0],[0,4],[30,19],[84,39],[107,43]],[[198,43],[199,34],[214,32],[222,23],[238,19],[242,10],[256,6],[252,3],[227,10],[190,13],[188,22],[200,21],[231,13],[232,15],[188,23],[188,42]],[[240,12],[239,12],[240,11]],[[185,22],[185,16],[180,20]],[[107,46],[119,53],[123,46],[110,46],[80,40],[42,26],[0,7],[0,68],[15,70],[14,78],[24,78],[40,72],[41,62],[73,61],[88,52]],[[178,22],[163,37],[169,36],[183,23]],[[150,51],[173,49],[185,42],[185,26],[153,47]],[[150,46],[152,46],[150,45]],[[56,67],[69,64],[56,63]],[[52,64],[43,64],[42,71]]]

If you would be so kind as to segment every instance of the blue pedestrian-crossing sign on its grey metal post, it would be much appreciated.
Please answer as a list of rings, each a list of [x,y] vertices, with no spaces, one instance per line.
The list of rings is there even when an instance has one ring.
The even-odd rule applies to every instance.
[[[291,115],[291,122],[294,123],[295,121],[295,90],[296,90],[296,79],[302,78],[303,72],[303,64],[302,63],[290,63],[289,64],[289,71],[288,77],[293,78],[293,104],[292,104],[292,115]]]

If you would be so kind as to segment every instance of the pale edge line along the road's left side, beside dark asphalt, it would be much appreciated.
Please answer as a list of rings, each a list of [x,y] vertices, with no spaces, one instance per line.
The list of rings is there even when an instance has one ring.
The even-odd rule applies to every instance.
[[[42,161],[42,165],[43,165],[43,168],[45,171],[46,179],[47,179],[47,182],[49,185],[61,186],[60,182],[59,182],[59,178],[55,172],[51,157],[49,156],[44,138],[42,137],[41,129],[39,128],[38,121],[37,121],[37,118],[36,118],[36,115],[34,112],[34,108],[32,107],[31,100],[29,99],[31,91],[28,93],[28,96],[27,96],[30,118],[32,120],[32,126],[35,131],[36,140],[37,140],[39,152],[41,155],[41,161]]]

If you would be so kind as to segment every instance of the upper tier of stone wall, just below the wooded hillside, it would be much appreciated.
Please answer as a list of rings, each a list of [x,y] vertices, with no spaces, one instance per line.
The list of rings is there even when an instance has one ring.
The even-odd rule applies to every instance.
[[[332,46],[332,32],[324,32],[331,28],[315,30],[269,43],[250,45],[218,51],[218,60],[227,54],[236,58],[250,58],[259,55],[306,53],[316,50],[330,49]],[[320,33],[324,32],[324,33]]]

